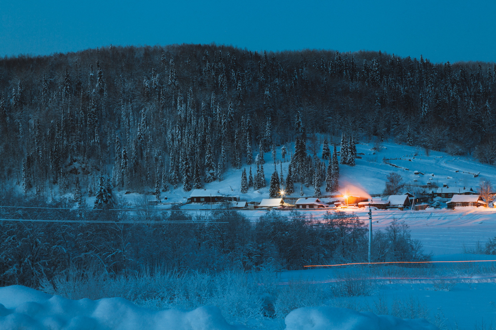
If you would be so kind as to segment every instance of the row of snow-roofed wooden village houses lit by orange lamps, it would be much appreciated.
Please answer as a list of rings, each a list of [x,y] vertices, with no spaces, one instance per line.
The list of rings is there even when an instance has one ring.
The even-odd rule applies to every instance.
[[[433,197],[450,198],[446,203],[448,209],[457,207],[470,207],[470,206],[486,206],[484,200],[480,195],[477,195],[472,188],[439,188],[436,192],[433,191]],[[412,193],[407,192],[404,195],[391,195],[387,200],[381,198],[366,198],[360,196],[346,196],[334,200],[326,200],[327,203],[322,202],[319,198],[304,197],[299,198],[296,202],[290,199],[293,204],[286,203],[283,198],[264,198],[258,204],[252,202],[240,201],[240,196],[227,196],[221,194],[215,189],[194,189],[187,199],[186,203],[194,204],[220,204],[227,203],[230,208],[234,209],[321,209],[321,208],[340,208],[355,206],[358,208],[374,207],[377,209],[397,209],[404,210],[411,207],[413,210],[425,210],[429,204],[422,203],[424,199],[416,198]]]

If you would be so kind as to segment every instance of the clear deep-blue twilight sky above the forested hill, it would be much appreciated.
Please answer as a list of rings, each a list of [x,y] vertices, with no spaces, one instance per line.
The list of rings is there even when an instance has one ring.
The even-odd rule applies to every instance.
[[[495,22],[496,0],[0,0],[0,56],[215,42],[495,61]]]

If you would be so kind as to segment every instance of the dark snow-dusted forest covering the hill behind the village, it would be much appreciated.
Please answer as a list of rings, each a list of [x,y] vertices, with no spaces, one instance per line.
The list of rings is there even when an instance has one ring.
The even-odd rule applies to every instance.
[[[354,164],[360,139],[475,153],[494,164],[495,68],[217,45],[4,57],[1,182],[49,196],[74,193],[78,181],[92,195],[103,174],[119,190],[187,191],[222,180],[228,166],[251,165],[260,167],[253,186],[263,187],[265,178],[255,179],[263,152],[295,143],[288,189],[300,182],[318,192],[323,181],[335,190],[329,145],[339,137],[340,164]],[[315,144],[323,143],[322,161],[307,155],[315,134],[326,136]]]

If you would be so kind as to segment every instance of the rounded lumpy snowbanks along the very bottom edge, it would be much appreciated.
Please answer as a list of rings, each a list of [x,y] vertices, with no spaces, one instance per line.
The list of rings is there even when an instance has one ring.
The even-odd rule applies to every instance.
[[[345,308],[305,307],[286,317],[287,330],[435,330],[425,320],[401,320]],[[25,286],[0,287],[0,330],[241,330],[217,307],[152,311],[123,298],[69,300]]]

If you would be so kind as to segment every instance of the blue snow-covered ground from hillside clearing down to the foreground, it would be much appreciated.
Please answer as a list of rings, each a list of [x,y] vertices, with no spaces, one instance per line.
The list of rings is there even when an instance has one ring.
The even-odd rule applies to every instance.
[[[356,160],[356,166],[340,165],[341,192],[367,196],[379,194],[384,189],[386,175],[399,173],[406,183],[425,185],[434,181],[438,186],[472,187],[476,190],[481,179],[496,183],[496,167],[480,164],[468,157],[451,157],[441,152],[423,155],[423,150],[415,147],[384,143],[380,152],[374,154],[372,145],[358,144],[357,152],[362,159]],[[293,151],[293,146],[287,146]],[[415,154],[417,156],[414,156]],[[256,155],[256,152],[254,152]],[[265,156],[265,179],[267,185],[274,164],[270,153]],[[278,150],[280,157],[280,149]],[[407,160],[389,160],[388,162],[403,168],[393,167],[382,162],[382,158],[404,158]],[[411,161],[410,161],[411,160]],[[288,161],[288,158],[286,159]],[[283,175],[287,174],[288,162],[282,163]],[[327,165],[327,161],[326,161]],[[249,166],[247,172],[249,171]],[[252,166],[254,173],[256,165]],[[278,172],[280,165],[276,166]],[[224,173],[224,180],[206,184],[206,189],[218,189],[226,195],[239,195],[245,201],[261,201],[269,198],[268,187],[247,194],[240,193],[241,172],[230,169]],[[419,171],[424,174],[414,174]],[[465,173],[464,173],[465,172]],[[467,173],[469,172],[469,173]],[[477,173],[477,176],[474,174]],[[279,173],[280,174],[280,173]],[[313,195],[313,187],[305,187],[306,196]],[[321,187],[322,193],[324,187]],[[295,193],[291,197],[300,197],[300,183],[295,183]],[[139,204],[140,195],[120,193],[130,205]],[[162,200],[167,203],[185,203],[189,193],[182,187],[171,192],[162,193]],[[153,198],[153,197],[151,197]],[[91,205],[93,197],[87,198]],[[444,199],[446,202],[447,199]],[[442,201],[441,201],[442,202]],[[170,208],[172,204],[160,208]],[[393,219],[404,220],[411,230],[413,238],[419,239],[427,253],[432,252],[433,261],[469,261],[493,260],[496,256],[464,254],[474,250],[479,244],[484,245],[488,238],[496,236],[496,209],[460,208],[446,210],[429,208],[425,211],[391,211],[373,210],[373,230],[384,230]],[[210,211],[196,211],[197,208],[214,206],[185,205],[180,208],[193,215],[208,214]],[[342,210],[354,212],[360,219],[368,221],[368,209],[349,208]],[[215,212],[215,211],[212,211]],[[282,216],[287,215],[280,211]],[[257,220],[266,211],[241,211],[250,220]],[[325,211],[303,211],[309,217],[319,220]],[[449,265],[449,266],[448,266]],[[232,306],[223,305],[221,300],[208,302],[217,307],[197,307],[181,305],[183,310],[164,309],[160,306],[136,299],[103,298],[99,300],[68,300],[20,286],[0,288],[0,330],[3,329],[435,329],[422,320],[427,318],[439,329],[495,329],[496,328],[496,263],[456,263],[434,264],[426,269],[400,269],[397,267],[369,268],[321,268],[272,273],[258,285],[268,283],[275,287],[278,298],[274,304],[283,305],[288,313],[285,318],[241,320],[233,317],[227,310]],[[347,273],[348,272],[348,273]],[[349,273],[351,272],[351,273]],[[347,275],[352,274],[352,275]],[[351,276],[351,277],[350,277]],[[335,290],[344,290],[344,284],[367,285],[363,294],[341,296]],[[45,288],[45,291],[46,288]],[[120,292],[120,291],[119,291]],[[334,294],[333,294],[334,293]],[[360,292],[359,292],[360,293]],[[113,294],[113,295],[112,295]],[[145,294],[145,293],[143,293]],[[110,296],[125,296],[109,293]],[[257,299],[265,299],[258,296]],[[226,304],[229,297],[225,297]],[[75,298],[73,298],[75,299]],[[95,298],[96,299],[96,298]],[[253,301],[256,301],[253,300]],[[290,302],[294,301],[295,305]],[[206,301],[205,301],[206,302]],[[134,303],[134,304],[133,304]],[[248,300],[247,302],[248,303]],[[151,306],[153,305],[153,306]],[[206,303],[205,305],[209,305]],[[233,305],[233,304],[231,304]],[[236,305],[236,304],[235,304]],[[138,307],[141,306],[141,307]],[[159,306],[159,307],[157,307]],[[178,305],[179,306],[179,305]],[[179,307],[181,307],[179,306]],[[224,306],[224,307],[223,307]],[[276,307],[277,307],[276,306]],[[291,306],[295,308],[291,308]],[[307,306],[307,307],[305,307]],[[326,306],[326,307],[318,307]],[[150,307],[151,309],[146,309]],[[167,305],[167,308],[171,305]],[[173,307],[173,306],[172,306]],[[245,306],[246,307],[246,306]],[[245,308],[244,307],[244,308]],[[339,309],[346,307],[350,309]],[[250,307],[251,308],[251,307]],[[279,307],[282,308],[282,307]],[[255,308],[256,309],[256,308]],[[356,311],[354,311],[356,310]],[[357,312],[358,311],[358,312]],[[379,316],[381,314],[396,315]],[[401,319],[407,319],[401,321]],[[226,321],[227,320],[227,321]],[[243,324],[235,325],[233,324]]]

